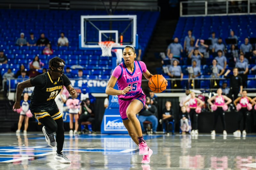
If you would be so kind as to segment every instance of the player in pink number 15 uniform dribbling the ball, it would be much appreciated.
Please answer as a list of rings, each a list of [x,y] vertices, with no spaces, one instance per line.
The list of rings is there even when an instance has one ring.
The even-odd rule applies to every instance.
[[[141,163],[149,164],[153,151],[143,140],[140,121],[136,114],[143,109],[146,102],[146,95],[141,89],[142,74],[147,80],[153,75],[149,73],[145,63],[134,61],[136,52],[133,47],[124,47],[123,58],[124,62],[116,66],[108,81],[106,94],[118,96],[119,112],[124,126],[132,140],[139,145],[139,154],[143,155]],[[118,90],[114,89],[116,83]]]

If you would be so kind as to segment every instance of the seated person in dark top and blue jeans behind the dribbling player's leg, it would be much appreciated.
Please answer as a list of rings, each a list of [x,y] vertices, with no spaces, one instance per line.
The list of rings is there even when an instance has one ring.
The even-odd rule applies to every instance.
[[[157,114],[156,106],[153,104],[150,104],[150,98],[146,97],[146,104],[144,105],[143,110],[139,112],[139,117],[138,117],[142,132],[145,132],[143,122],[150,121],[152,123],[153,134],[156,134],[156,128],[158,125],[156,114]]]

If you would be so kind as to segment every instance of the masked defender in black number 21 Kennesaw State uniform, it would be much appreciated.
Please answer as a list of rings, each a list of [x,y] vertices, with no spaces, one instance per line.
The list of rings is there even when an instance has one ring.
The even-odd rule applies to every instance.
[[[66,86],[72,98],[77,97],[76,90],[64,73],[65,61],[54,57],[49,61],[48,72],[23,81],[17,86],[16,102],[14,109],[20,108],[20,97],[24,88],[35,87],[30,98],[30,111],[43,124],[43,133],[49,146],[54,147],[57,143],[57,153],[54,159],[61,163],[70,163],[70,160],[62,153],[64,143],[64,127],[60,110],[55,103],[55,97]],[[56,142],[53,133],[56,132]]]

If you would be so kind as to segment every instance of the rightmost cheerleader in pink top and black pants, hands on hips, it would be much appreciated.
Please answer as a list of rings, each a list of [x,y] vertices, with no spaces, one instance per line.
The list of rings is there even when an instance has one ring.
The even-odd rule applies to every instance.
[[[239,104],[241,104],[241,109],[238,111],[238,126],[237,126],[237,130],[233,133],[234,137],[241,137],[241,131],[240,131],[240,123],[242,121],[242,118],[244,119],[244,126],[243,126],[243,137],[246,137],[246,120],[247,120],[247,116],[248,116],[248,112],[249,110],[247,109],[247,105],[250,104],[250,102],[252,103],[252,105],[256,104],[254,100],[252,100],[251,97],[247,96],[247,91],[244,90],[242,92],[242,97],[238,97],[235,101],[234,101],[234,105],[236,106],[237,103],[239,102]]]

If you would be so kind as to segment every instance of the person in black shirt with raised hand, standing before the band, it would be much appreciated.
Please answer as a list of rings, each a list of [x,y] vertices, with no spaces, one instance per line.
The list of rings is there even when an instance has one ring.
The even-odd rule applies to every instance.
[[[237,98],[238,93],[242,94],[242,78],[238,75],[238,68],[233,68],[233,75],[228,76],[228,73],[230,73],[230,70],[227,70],[227,72],[224,74],[224,77],[226,79],[230,79],[230,90],[228,93],[228,97],[231,98],[232,101],[234,101],[234,99]],[[232,97],[232,95],[234,95],[234,98]]]

